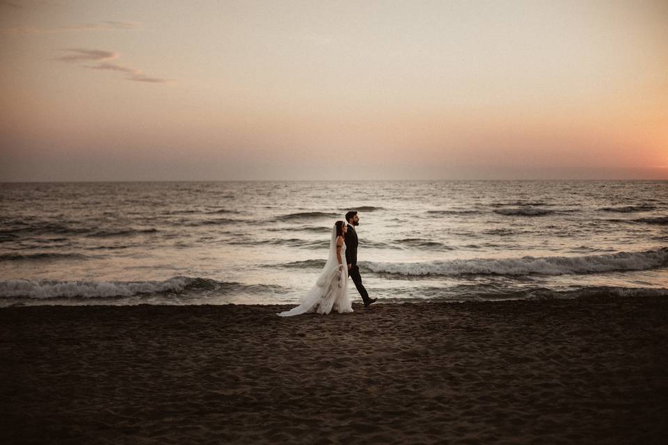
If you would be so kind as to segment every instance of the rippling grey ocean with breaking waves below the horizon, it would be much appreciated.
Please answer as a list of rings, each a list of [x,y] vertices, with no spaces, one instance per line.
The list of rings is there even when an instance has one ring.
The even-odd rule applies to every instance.
[[[379,302],[668,295],[668,181],[4,183],[0,307],[296,303],[348,210]]]

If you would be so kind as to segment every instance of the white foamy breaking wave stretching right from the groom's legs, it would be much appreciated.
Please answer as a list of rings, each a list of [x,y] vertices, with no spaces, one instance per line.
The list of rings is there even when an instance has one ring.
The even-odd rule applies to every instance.
[[[646,270],[668,265],[668,248],[644,252],[582,257],[522,257],[509,259],[455,259],[421,263],[364,261],[360,266],[374,273],[424,275],[566,275],[614,270]]]

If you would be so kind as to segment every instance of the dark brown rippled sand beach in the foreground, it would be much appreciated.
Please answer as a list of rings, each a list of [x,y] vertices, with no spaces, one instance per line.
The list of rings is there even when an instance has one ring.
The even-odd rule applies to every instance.
[[[0,442],[668,437],[668,298],[283,309],[0,309]]]

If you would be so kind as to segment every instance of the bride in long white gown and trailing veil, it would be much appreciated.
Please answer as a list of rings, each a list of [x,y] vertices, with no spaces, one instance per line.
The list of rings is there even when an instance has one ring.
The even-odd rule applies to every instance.
[[[315,286],[301,298],[299,306],[281,312],[279,316],[288,317],[307,312],[329,314],[333,310],[339,314],[353,312],[350,297],[346,292],[348,270],[344,263],[346,244],[343,236],[347,231],[348,227],[343,221],[335,223],[329,241],[329,256]]]

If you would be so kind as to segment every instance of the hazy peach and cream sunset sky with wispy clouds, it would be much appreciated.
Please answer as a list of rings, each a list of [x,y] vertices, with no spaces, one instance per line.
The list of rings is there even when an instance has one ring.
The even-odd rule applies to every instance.
[[[0,181],[668,179],[668,1],[0,1]]]

